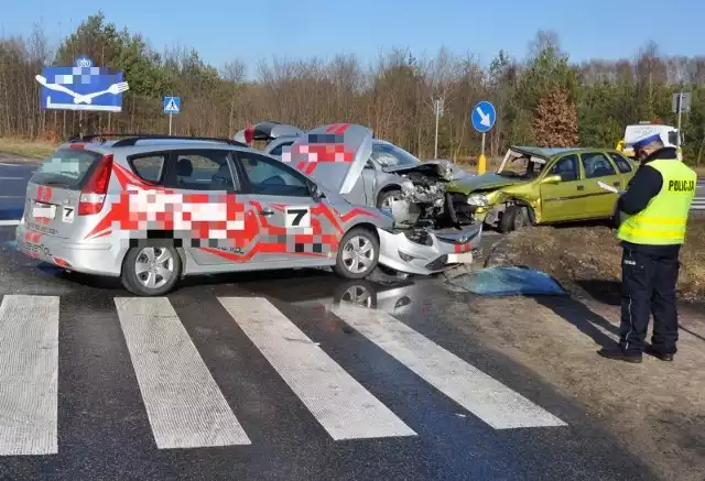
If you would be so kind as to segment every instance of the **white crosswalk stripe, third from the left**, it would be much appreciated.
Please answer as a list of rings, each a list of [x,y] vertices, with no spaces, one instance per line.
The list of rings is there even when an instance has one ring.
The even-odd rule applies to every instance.
[[[218,300],[333,439],[416,436],[269,300]]]

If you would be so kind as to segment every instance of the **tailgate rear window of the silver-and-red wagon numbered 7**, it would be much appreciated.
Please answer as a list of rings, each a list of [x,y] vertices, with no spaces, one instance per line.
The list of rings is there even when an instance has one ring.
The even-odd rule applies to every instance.
[[[44,160],[30,182],[67,188],[79,187],[93,163],[101,156],[97,152],[83,149],[59,149]]]

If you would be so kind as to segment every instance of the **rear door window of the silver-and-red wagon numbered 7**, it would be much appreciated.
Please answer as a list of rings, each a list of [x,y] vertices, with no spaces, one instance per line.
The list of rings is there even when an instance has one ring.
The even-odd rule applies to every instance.
[[[167,187],[185,190],[237,190],[229,151],[175,151]]]

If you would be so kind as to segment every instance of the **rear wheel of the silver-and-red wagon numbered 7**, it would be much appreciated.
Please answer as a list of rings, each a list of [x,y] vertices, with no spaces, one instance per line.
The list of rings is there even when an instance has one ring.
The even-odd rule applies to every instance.
[[[155,269],[161,266],[166,270],[160,271],[161,273],[170,273],[169,278],[158,274],[156,271],[138,273],[138,264],[148,267],[152,266],[150,255],[154,256]],[[163,256],[162,262],[159,262],[160,256]],[[165,245],[131,248],[122,261],[120,281],[126,289],[140,297],[163,296],[172,291],[176,282],[178,282],[181,271],[181,256],[175,248]],[[147,280],[144,280],[145,276],[143,274],[147,274]],[[151,282],[150,277],[154,282]],[[153,286],[150,286],[150,284]]]

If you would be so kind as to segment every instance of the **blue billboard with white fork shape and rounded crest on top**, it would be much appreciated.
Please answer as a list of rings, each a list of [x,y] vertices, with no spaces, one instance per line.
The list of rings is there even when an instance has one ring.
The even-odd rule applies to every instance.
[[[94,67],[85,56],[73,67],[45,67],[34,78],[42,86],[43,109],[121,112],[122,94],[130,88],[122,72]]]

